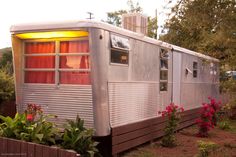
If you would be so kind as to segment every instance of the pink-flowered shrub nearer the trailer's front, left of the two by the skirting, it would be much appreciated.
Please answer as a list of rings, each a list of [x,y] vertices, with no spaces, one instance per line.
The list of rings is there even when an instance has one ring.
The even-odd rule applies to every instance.
[[[161,144],[164,147],[173,147],[176,145],[175,130],[177,129],[178,123],[180,121],[180,112],[184,109],[171,103],[166,107],[166,110],[159,112],[162,117],[168,117],[167,125],[164,129],[165,136],[161,140]]]

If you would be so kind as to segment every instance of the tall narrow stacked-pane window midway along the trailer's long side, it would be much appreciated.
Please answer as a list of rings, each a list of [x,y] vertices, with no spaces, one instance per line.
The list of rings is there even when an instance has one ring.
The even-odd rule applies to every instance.
[[[168,89],[168,51],[161,49],[160,52],[160,91]]]

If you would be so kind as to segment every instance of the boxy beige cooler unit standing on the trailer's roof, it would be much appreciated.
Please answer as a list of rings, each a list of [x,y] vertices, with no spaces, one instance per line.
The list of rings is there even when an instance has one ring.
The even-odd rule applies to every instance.
[[[148,17],[139,13],[123,14],[122,28],[147,35]]]

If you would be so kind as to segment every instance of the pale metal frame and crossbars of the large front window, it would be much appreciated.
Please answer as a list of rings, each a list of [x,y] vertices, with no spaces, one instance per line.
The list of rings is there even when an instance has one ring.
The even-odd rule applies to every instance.
[[[91,74],[91,66],[89,69],[66,69],[66,68],[60,68],[60,56],[88,56],[89,62],[91,64],[91,57],[90,53],[91,50],[89,49],[86,53],[60,53],[60,42],[62,41],[83,41],[87,40],[88,44],[90,43],[89,37],[78,37],[78,38],[52,38],[52,39],[26,39],[23,40],[23,46],[22,46],[22,81],[24,85],[28,84],[35,84],[35,85],[84,85],[84,84],[62,84],[60,83],[60,72],[89,72]],[[26,43],[39,43],[39,42],[54,42],[55,43],[55,52],[54,53],[38,53],[38,54],[26,54],[25,53],[25,44]],[[90,46],[90,45],[89,45]],[[55,68],[25,68],[25,58],[27,56],[55,56]],[[26,83],[25,82],[25,72],[26,71],[53,71],[55,74],[55,82],[54,83]]]

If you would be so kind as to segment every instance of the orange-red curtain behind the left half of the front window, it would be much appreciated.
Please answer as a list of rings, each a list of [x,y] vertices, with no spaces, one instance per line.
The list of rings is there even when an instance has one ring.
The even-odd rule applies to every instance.
[[[42,54],[42,56],[26,56],[25,68],[55,68],[55,56],[43,56],[44,53],[55,53],[54,42],[26,43],[25,54]],[[26,71],[25,83],[55,83],[55,72]]]

